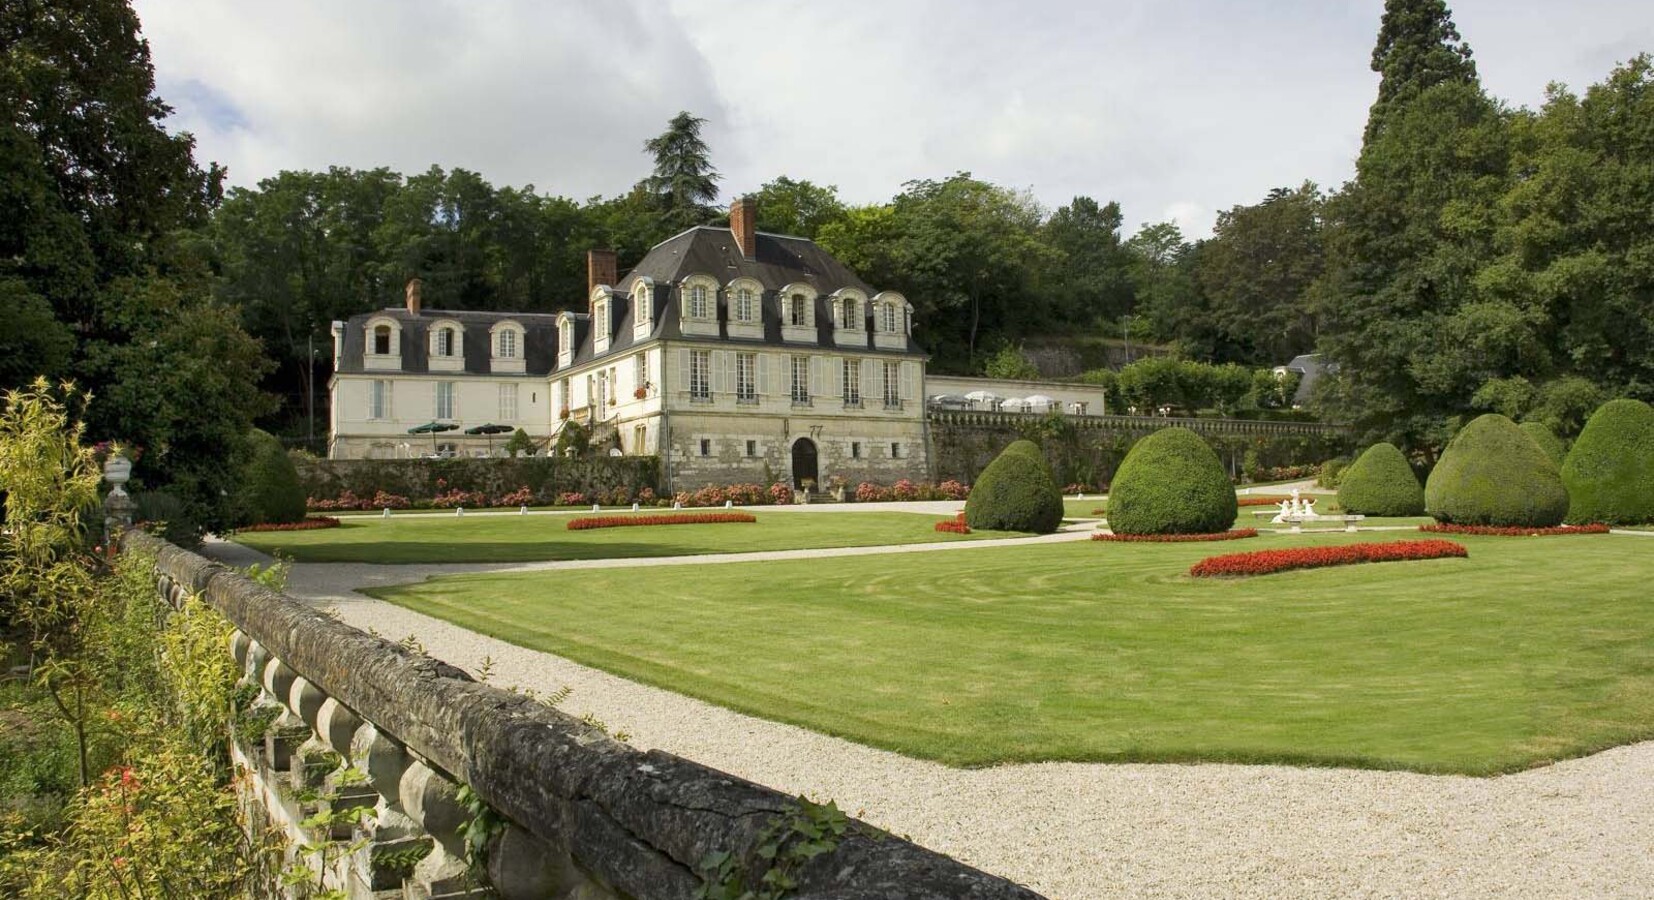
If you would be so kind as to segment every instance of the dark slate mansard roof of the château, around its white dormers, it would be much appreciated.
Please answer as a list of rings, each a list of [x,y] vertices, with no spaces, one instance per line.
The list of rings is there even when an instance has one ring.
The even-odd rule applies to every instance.
[[[860,341],[840,344],[837,341],[832,311],[827,306],[829,296],[840,288],[862,291],[867,299],[878,294],[867,281],[862,281],[849,266],[835,260],[830,253],[807,238],[771,235],[758,232],[756,253],[751,260],[741,255],[734,235],[729,228],[713,228],[698,225],[672,238],[657,243],[643,260],[614,285],[614,301],[609,316],[609,349],[594,351],[592,318],[581,313],[465,313],[452,309],[423,309],[417,314],[402,308],[380,309],[351,316],[344,329],[344,352],[339,357],[339,372],[364,372],[362,356],[367,342],[369,319],[394,319],[402,326],[402,371],[427,372],[430,349],[430,328],[438,319],[453,319],[465,326],[465,372],[490,374],[490,328],[500,321],[516,321],[528,331],[526,336],[526,376],[549,376],[559,371],[557,366],[557,319],[567,318],[574,326],[574,359],[567,369],[577,369],[587,362],[617,357],[630,347],[657,339],[681,339],[695,342],[718,342],[733,346],[776,346],[805,351],[840,349],[857,352],[923,356],[925,351],[908,336],[906,349],[888,351],[873,346],[872,328],[863,321]],[[724,298],[718,298],[718,338],[685,336],[680,321],[680,285],[693,275],[706,275],[726,286],[736,278],[753,278],[764,286],[762,294],[762,339],[729,338],[726,323],[729,311]],[[653,319],[645,338],[635,338],[633,316],[637,309],[632,303],[632,290],[640,278],[653,283]],[[789,285],[809,285],[815,290],[815,344],[786,342],[781,339],[781,296],[779,291]],[[579,308],[586,308],[586,299]],[[863,316],[872,318],[870,304],[863,308]],[[455,372],[442,372],[443,376]]]

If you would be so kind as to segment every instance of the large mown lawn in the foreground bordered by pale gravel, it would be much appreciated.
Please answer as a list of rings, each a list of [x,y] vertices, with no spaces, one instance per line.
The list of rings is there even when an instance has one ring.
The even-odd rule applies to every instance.
[[[1489,774],[1654,738],[1646,538],[1457,538],[1470,559],[1186,574],[1216,553],[1409,538],[1083,541],[453,576],[374,594],[723,706],[964,766]]]

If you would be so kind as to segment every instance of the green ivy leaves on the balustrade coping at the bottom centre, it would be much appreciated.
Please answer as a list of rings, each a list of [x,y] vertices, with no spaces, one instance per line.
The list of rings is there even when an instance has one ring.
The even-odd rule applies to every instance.
[[[782,900],[799,887],[797,875],[812,859],[830,854],[853,822],[839,804],[794,799],[758,832],[756,860],[744,867],[734,854],[713,850],[700,865],[696,900]]]

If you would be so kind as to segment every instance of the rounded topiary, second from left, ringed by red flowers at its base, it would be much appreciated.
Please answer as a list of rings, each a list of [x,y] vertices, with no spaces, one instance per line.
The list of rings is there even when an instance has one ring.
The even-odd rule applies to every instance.
[[[1236,490],[1217,453],[1188,428],[1161,428],[1131,447],[1108,488],[1116,534],[1211,534],[1236,521]]]

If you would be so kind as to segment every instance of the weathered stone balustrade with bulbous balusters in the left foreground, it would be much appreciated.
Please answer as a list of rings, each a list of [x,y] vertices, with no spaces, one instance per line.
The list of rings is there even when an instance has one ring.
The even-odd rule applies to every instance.
[[[359,788],[347,802],[374,812],[356,834],[361,850],[331,882],[352,897],[475,893],[458,862],[470,816],[458,802],[461,784],[506,819],[488,854],[493,887],[506,898],[690,898],[708,854],[729,852],[738,869],[761,870],[761,834],[791,811],[789,797],[769,788],[630,748],[157,538],[132,531],[122,549],[155,556],[157,589],[174,606],[200,594],[237,627],[232,650],[281,708],[263,746],[237,749],[266,806],[286,802],[284,784],[334,778],[329,766],[366,773],[370,791]],[[410,840],[430,842],[432,852],[412,874],[394,874],[405,883],[392,883],[375,854]],[[799,900],[1037,897],[860,822],[796,877],[787,897]]]

